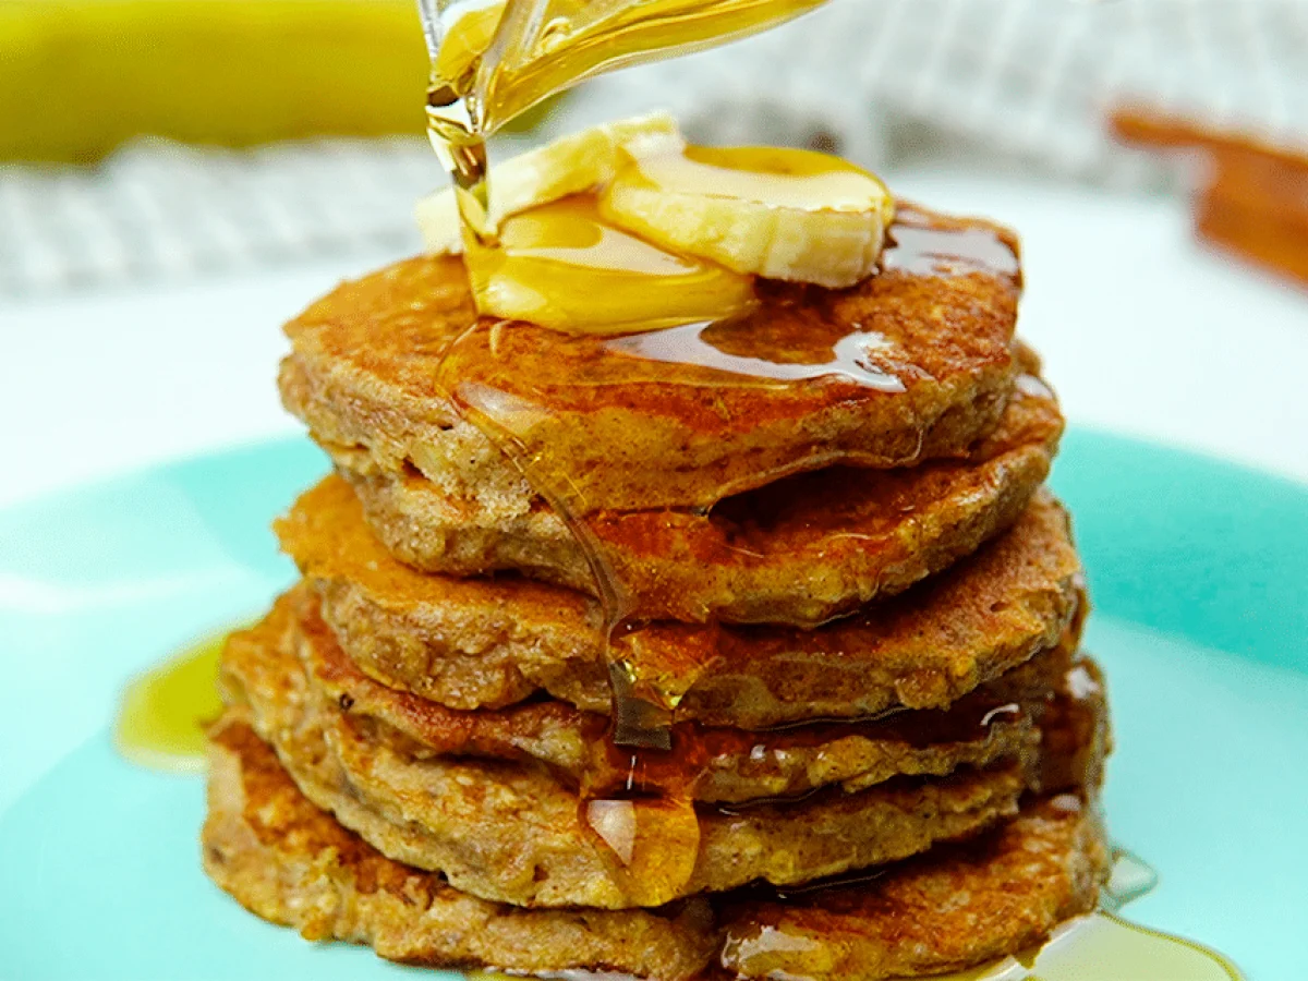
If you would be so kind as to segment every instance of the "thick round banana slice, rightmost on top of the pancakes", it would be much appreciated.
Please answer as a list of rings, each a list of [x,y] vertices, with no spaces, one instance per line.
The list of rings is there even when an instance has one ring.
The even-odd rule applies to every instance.
[[[840,288],[875,271],[895,201],[876,177],[825,153],[687,146],[632,157],[600,209],[681,255]]]

